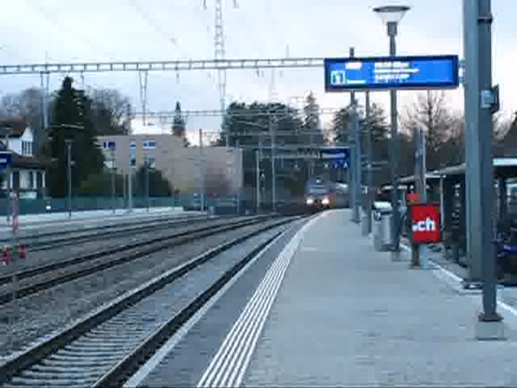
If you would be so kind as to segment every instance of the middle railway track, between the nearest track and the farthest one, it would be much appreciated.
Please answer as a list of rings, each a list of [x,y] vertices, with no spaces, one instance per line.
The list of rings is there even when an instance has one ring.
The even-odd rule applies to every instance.
[[[87,253],[86,255],[58,260],[49,264],[6,274],[0,276],[0,286],[4,288],[4,290],[0,291],[0,305],[5,305],[12,300],[13,284],[16,284],[16,297],[19,299],[163,249],[254,223],[260,223],[268,218],[271,218],[271,216],[250,217],[244,220],[236,219],[231,222],[217,219],[214,222],[215,225],[205,225],[199,228],[148,238],[131,244],[122,244]]]

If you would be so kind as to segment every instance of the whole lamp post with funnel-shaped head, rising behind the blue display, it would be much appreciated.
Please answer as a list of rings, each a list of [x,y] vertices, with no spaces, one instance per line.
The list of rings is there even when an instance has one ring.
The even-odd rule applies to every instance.
[[[402,5],[388,5],[383,7],[376,7],[373,11],[381,17],[382,21],[386,23],[389,36],[389,55],[395,56],[397,54],[397,46],[395,37],[397,36],[397,27],[399,22],[409,10],[408,6]],[[398,205],[398,178],[397,169],[399,162],[399,138],[398,138],[398,123],[397,123],[397,91],[392,89],[390,91],[390,116],[391,116],[391,206],[393,208],[393,257],[398,258],[400,252],[400,212]]]

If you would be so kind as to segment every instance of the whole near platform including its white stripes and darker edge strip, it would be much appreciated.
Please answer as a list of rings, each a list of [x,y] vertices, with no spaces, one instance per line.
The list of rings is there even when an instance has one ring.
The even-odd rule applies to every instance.
[[[505,340],[476,340],[481,295],[409,263],[375,251],[348,210],[320,213],[246,280],[253,291],[216,304],[186,334],[197,339],[125,386],[517,385],[517,310],[500,303]]]

